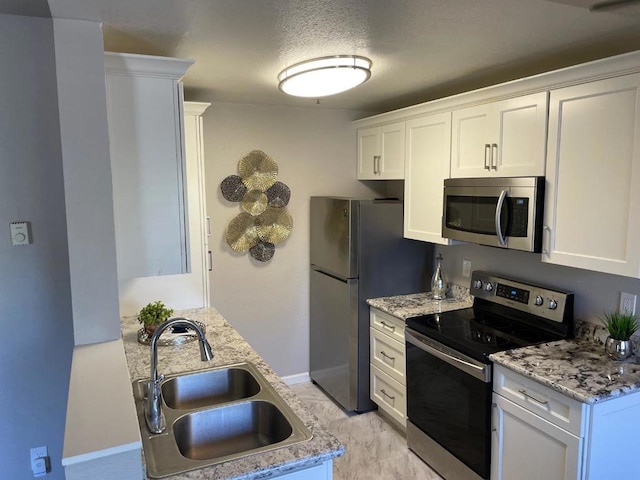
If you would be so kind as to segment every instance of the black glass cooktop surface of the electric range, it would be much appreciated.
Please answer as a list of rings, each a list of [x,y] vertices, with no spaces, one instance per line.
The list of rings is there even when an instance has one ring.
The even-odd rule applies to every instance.
[[[407,327],[483,362],[492,353],[564,338],[478,308],[409,318]]]

